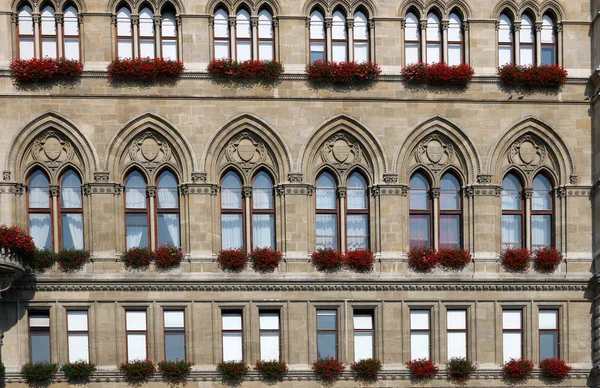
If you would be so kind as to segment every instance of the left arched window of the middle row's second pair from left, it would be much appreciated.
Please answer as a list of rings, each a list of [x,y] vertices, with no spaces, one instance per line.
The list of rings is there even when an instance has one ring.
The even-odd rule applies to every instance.
[[[125,179],[125,236],[127,249],[150,246],[148,218],[146,180],[139,171],[133,170]]]

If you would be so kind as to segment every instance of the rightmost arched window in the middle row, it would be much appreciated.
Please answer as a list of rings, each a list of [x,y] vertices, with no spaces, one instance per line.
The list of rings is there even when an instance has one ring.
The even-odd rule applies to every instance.
[[[533,179],[531,197],[531,250],[553,245],[552,185],[542,174]]]

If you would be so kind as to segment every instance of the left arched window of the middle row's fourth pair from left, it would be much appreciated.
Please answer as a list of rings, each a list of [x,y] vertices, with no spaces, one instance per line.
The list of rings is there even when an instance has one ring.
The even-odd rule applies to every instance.
[[[316,192],[317,249],[338,249],[337,184],[333,175],[321,173]]]

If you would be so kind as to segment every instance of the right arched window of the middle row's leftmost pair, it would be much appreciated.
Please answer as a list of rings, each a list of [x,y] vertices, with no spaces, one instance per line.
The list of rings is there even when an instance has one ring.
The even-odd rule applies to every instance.
[[[61,248],[83,249],[83,197],[81,179],[67,170],[60,181]]]

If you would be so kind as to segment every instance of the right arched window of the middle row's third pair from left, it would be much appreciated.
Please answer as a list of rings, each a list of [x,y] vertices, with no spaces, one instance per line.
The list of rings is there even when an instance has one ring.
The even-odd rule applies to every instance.
[[[252,248],[275,249],[273,180],[264,171],[252,183]]]

